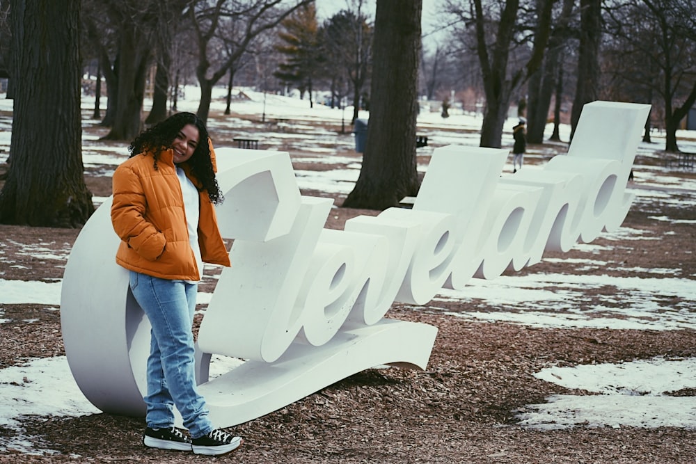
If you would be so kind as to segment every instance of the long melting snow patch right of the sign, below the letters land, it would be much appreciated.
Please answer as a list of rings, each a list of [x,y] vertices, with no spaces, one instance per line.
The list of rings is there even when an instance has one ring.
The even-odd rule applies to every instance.
[[[578,303],[587,301],[587,289],[606,286],[616,289],[613,298],[603,298],[606,305],[578,310]],[[663,305],[665,294],[686,298],[689,303],[667,308]],[[473,298],[483,299],[496,309],[455,313],[437,306],[438,301],[459,301],[466,307]],[[535,274],[477,281],[461,291],[443,290],[428,308],[465,319],[537,327],[679,330],[696,327],[696,313],[691,308],[695,298],[696,285],[687,279]]]

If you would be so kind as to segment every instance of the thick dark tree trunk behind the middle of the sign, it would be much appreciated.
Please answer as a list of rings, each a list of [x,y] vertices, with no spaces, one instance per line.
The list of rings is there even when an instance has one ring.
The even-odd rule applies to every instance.
[[[344,207],[386,209],[416,195],[416,116],[422,0],[377,0],[372,103],[363,166]]]

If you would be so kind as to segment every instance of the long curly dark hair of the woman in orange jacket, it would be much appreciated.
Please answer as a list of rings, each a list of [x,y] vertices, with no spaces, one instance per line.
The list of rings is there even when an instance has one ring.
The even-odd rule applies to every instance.
[[[196,145],[193,156],[186,163],[191,168],[193,176],[203,185],[203,190],[207,191],[210,201],[216,204],[221,203],[223,195],[215,179],[213,163],[210,159],[210,147],[207,143],[208,131],[205,129],[203,121],[197,115],[186,112],[176,113],[157,125],[150,127],[150,129],[143,131],[128,147],[130,157],[149,152],[155,157],[154,166],[157,169],[157,161],[161,152],[168,150],[182,127],[189,124],[196,126],[198,129],[199,143]]]

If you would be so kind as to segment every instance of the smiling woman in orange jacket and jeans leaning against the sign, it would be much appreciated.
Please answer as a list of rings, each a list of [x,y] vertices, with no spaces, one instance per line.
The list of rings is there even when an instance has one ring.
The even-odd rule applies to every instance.
[[[217,456],[242,438],[215,430],[196,390],[193,311],[203,262],[230,266],[214,203],[222,193],[203,122],[177,113],[136,137],[113,173],[111,222],[116,262],[152,325],[148,358],[147,447]],[[174,426],[173,407],[191,438]]]

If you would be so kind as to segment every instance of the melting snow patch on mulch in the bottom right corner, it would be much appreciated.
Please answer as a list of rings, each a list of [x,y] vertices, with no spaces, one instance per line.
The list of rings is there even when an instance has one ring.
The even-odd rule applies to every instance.
[[[517,414],[524,427],[551,430],[607,425],[696,429],[693,397],[665,395],[696,385],[695,358],[551,367],[535,376],[596,394],[557,394],[547,398],[544,404],[527,406]]]

